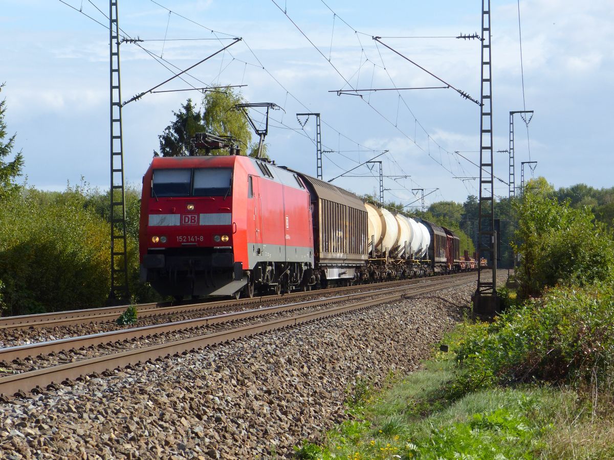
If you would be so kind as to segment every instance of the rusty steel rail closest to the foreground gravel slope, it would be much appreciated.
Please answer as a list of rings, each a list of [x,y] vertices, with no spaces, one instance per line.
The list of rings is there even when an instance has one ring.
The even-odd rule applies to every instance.
[[[378,299],[369,299],[354,304],[340,305],[318,312],[303,313],[290,318],[267,321],[266,323],[251,324],[229,331],[214,332],[212,334],[190,337],[188,339],[176,340],[172,342],[152,345],[150,347],[139,348],[136,350],[123,351],[113,355],[99,356],[98,358],[84,359],[82,361],[61,364],[59,366],[47,367],[45,369],[23,372],[21,374],[9,375],[0,378],[0,400],[7,401],[11,396],[25,397],[26,393],[42,393],[43,388],[56,389],[55,382],[63,385],[71,385],[73,379],[83,378],[83,376],[99,377],[100,373],[112,375],[111,369],[130,367],[133,364],[142,362],[155,362],[171,356],[187,355],[188,353],[198,353],[204,347],[230,340],[252,337],[263,332],[273,331],[274,329],[296,326],[297,324],[308,323],[328,316],[336,316],[353,310],[366,309],[373,305],[383,304],[391,301],[398,301],[406,297],[414,297],[419,294],[437,291],[442,288],[452,287],[465,283],[466,280],[448,283],[445,286],[433,286],[416,289],[413,293],[397,293]],[[321,299],[325,302],[326,299]]]

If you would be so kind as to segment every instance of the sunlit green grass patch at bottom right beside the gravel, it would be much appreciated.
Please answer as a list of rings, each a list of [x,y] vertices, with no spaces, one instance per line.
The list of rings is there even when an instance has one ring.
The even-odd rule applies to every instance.
[[[591,421],[573,391],[527,385],[446,401],[442,384],[453,375],[451,359],[427,362],[371,397],[322,445],[303,443],[297,458],[608,458],[608,442],[614,446],[614,424]]]

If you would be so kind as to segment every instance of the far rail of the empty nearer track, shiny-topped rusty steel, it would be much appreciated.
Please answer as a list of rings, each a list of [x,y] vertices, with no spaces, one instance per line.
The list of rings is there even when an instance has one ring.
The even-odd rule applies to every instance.
[[[465,280],[461,280],[459,283],[465,283]],[[449,284],[449,280],[433,281],[432,283],[429,283],[429,286],[438,287],[442,284]],[[411,288],[413,286],[409,287]],[[403,288],[403,286],[397,286],[392,288],[377,289],[375,291],[327,297],[325,299],[313,299],[310,301],[295,302],[293,304],[274,305],[273,307],[262,307],[259,309],[224,313],[222,315],[193,318],[191,320],[174,321],[172,323],[152,324],[150,326],[142,326],[141,328],[119,329],[118,331],[98,332],[97,334],[78,335],[76,337],[67,337],[66,339],[28,343],[27,345],[16,345],[14,347],[0,348],[0,361],[11,362],[14,361],[14,359],[49,355],[49,353],[58,353],[60,351],[77,349],[86,350],[89,347],[113,345],[114,343],[124,342],[127,340],[148,339],[156,337],[160,334],[168,334],[169,332],[180,332],[188,329],[211,326],[212,324],[230,323],[231,321],[245,320],[247,318],[255,318],[257,316],[270,315],[273,313],[316,307],[317,305],[322,305],[325,303],[359,299],[360,297],[373,296],[373,294],[386,293],[387,291]]]

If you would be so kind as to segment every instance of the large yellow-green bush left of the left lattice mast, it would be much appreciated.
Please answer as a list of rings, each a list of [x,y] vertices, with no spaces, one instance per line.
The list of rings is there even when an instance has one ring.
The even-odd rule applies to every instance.
[[[43,199],[45,198],[45,199]],[[0,201],[0,278],[13,315],[103,305],[109,226],[75,197],[22,190]]]

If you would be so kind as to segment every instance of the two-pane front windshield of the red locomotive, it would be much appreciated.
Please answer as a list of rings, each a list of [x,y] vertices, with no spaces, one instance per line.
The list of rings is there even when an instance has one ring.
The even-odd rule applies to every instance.
[[[156,169],[152,196],[230,196],[232,169]]]

